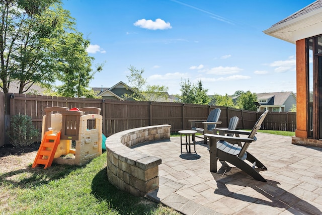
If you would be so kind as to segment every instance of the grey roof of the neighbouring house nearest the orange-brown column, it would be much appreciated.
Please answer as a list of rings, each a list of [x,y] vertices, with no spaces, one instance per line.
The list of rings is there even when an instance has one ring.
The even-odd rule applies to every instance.
[[[284,105],[289,96],[294,96],[293,92],[276,92],[276,93],[257,93],[257,99],[266,99],[267,105],[281,106]]]

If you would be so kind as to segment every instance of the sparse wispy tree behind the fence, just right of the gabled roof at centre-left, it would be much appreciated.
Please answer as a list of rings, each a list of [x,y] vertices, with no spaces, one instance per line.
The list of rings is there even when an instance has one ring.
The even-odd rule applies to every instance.
[[[128,85],[136,92],[132,95],[125,94],[123,98],[132,98],[136,101],[165,101],[168,99],[168,87],[162,85],[148,85],[143,78],[144,68],[137,69],[133,65],[128,68],[130,75],[126,76]]]

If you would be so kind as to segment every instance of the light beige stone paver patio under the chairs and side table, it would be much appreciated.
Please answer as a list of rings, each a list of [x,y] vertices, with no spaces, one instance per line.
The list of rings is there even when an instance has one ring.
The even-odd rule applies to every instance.
[[[136,147],[162,159],[159,188],[147,197],[188,215],[322,214],[322,148],[292,145],[290,136],[256,136],[248,151],[268,168],[261,171],[267,182],[219,161],[220,170],[211,173],[202,139],[197,155],[181,155],[180,137]]]

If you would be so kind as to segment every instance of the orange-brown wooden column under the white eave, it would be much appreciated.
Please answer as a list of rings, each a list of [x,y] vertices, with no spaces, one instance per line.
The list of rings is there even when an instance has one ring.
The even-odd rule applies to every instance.
[[[307,92],[305,39],[296,41],[296,137],[307,138]]]

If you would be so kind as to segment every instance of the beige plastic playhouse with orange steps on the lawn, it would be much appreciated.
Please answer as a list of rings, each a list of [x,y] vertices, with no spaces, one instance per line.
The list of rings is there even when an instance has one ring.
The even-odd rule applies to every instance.
[[[33,168],[52,162],[82,166],[102,154],[101,108],[44,108],[42,140]],[[87,114],[85,114],[87,113]]]

